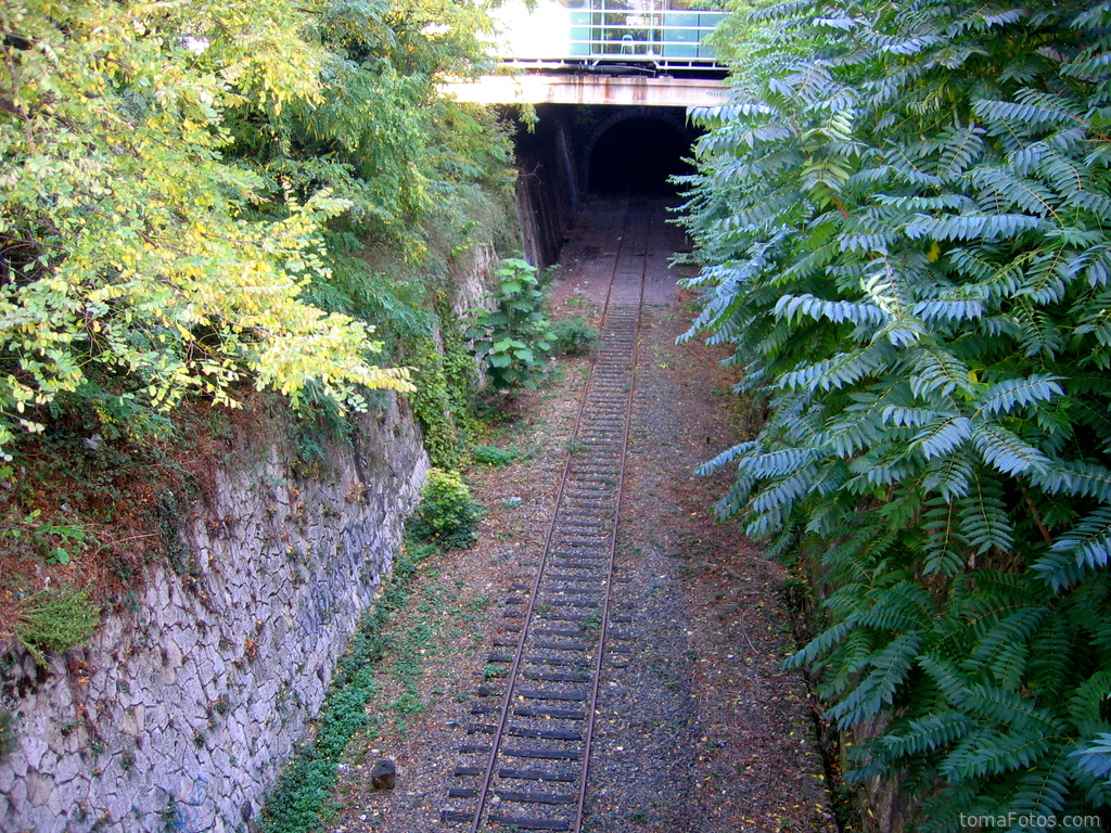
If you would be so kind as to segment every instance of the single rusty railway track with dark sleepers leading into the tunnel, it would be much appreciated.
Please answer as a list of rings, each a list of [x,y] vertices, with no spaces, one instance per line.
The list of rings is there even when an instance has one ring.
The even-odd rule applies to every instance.
[[[590,378],[531,585],[516,584],[440,820],[582,827],[599,686],[630,651],[613,603],[651,208],[625,209]]]

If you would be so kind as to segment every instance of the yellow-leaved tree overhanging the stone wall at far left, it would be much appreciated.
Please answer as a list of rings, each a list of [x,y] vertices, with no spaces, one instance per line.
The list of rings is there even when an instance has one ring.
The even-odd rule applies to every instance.
[[[229,113],[322,102],[301,7],[0,7],[0,446],[93,383],[160,408],[243,379],[294,402],[409,388],[370,328],[301,298],[347,203],[287,188],[259,217],[267,183],[222,155]]]

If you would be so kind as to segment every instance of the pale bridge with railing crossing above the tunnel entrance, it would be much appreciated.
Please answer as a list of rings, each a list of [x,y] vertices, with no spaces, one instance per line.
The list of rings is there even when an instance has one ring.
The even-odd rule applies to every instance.
[[[482,104],[723,103],[725,68],[707,37],[725,12],[668,8],[674,2],[508,2],[493,12],[501,31],[491,48],[502,73],[441,90]]]

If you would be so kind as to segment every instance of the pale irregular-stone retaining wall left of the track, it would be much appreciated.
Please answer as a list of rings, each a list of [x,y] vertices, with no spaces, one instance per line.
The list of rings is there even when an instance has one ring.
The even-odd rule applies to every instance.
[[[394,397],[294,474],[289,431],[237,438],[182,506],[180,571],[48,669],[0,672],[16,745],[0,831],[243,831],[387,574],[428,459]],[[303,466],[301,466],[303,468]],[[9,658],[10,659],[10,658]]]

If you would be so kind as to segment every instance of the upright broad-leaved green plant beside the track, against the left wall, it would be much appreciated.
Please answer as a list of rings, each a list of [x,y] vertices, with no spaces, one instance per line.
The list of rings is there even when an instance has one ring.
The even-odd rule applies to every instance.
[[[474,355],[484,361],[490,384],[513,393],[536,390],[544,378],[546,355],[552,334],[542,313],[544,293],[537,268],[519,258],[501,262],[493,310],[474,310],[466,335],[473,340]]]

